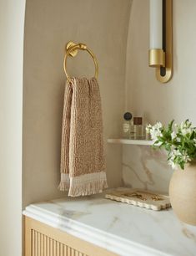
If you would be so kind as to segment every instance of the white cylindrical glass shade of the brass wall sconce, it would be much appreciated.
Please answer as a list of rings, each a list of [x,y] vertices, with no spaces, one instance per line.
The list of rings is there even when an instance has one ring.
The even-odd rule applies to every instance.
[[[163,1],[150,0],[149,49],[163,49]]]

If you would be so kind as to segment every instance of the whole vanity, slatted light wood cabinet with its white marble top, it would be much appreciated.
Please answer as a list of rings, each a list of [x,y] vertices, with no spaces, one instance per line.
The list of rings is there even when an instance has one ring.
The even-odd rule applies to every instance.
[[[152,211],[104,197],[26,207],[25,256],[195,255],[196,228],[179,222],[172,209]]]

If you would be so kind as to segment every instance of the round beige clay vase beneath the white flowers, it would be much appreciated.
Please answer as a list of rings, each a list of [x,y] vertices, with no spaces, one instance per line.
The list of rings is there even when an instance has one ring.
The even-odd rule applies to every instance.
[[[176,170],[169,183],[173,212],[184,223],[196,225],[196,161]]]

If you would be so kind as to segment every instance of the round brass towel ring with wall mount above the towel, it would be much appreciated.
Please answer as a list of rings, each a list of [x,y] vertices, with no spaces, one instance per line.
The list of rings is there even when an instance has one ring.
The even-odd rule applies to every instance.
[[[63,62],[63,68],[64,68],[64,72],[67,76],[67,79],[71,80],[71,78],[68,75],[68,72],[66,70],[66,64],[67,64],[68,56],[75,57],[78,54],[78,49],[87,50],[88,53],[91,55],[91,57],[93,58],[94,65],[95,65],[95,74],[94,74],[94,76],[95,76],[96,79],[98,79],[98,60],[96,59],[93,52],[87,47],[86,44],[82,44],[82,43],[75,44],[71,41],[68,42],[68,44],[66,45],[66,53],[65,53],[64,62]]]

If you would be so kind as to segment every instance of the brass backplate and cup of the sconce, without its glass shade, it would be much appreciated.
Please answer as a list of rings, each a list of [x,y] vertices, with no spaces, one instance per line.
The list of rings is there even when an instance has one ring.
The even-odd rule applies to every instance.
[[[173,0],[165,0],[165,2],[165,64],[163,64],[163,55],[157,51],[158,49],[149,50],[149,66],[156,67],[156,78],[161,83],[167,83],[173,75]],[[161,51],[162,49],[159,50]],[[161,69],[164,70],[164,74],[161,74]]]

